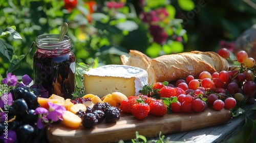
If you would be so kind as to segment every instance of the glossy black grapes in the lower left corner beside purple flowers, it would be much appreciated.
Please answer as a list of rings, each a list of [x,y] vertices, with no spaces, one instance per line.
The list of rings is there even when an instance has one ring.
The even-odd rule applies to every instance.
[[[39,107],[37,96],[26,87],[17,87],[10,90],[12,105],[8,112],[8,131],[14,131],[17,142],[47,142],[46,129],[38,129],[36,122],[38,115],[34,114]],[[3,134],[6,124],[1,122],[0,131]],[[11,136],[10,136],[11,137]]]

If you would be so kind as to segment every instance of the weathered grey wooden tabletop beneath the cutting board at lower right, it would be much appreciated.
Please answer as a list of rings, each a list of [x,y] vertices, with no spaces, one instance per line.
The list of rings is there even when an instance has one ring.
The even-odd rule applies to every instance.
[[[256,106],[256,102],[252,105],[245,105],[243,109],[247,110],[251,107]],[[256,113],[248,110],[245,112],[253,120],[256,119]],[[216,118],[218,120],[218,118]],[[241,114],[235,118],[232,118],[228,123],[206,127],[202,129],[196,129],[191,131],[179,132],[174,134],[165,135],[165,138],[169,138],[171,141],[181,141],[181,142],[227,142],[228,139],[234,137],[239,131],[242,125],[244,124],[245,115]],[[248,121],[249,122],[249,121]],[[254,131],[255,132],[255,131]],[[147,140],[158,139],[158,138],[148,138]],[[185,140],[185,141],[184,141]],[[131,141],[127,141],[131,142]],[[237,142],[240,142],[237,140]]]

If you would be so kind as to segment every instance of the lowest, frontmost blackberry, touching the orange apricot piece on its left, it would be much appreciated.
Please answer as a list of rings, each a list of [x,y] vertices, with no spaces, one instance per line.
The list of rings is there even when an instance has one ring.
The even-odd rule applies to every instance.
[[[91,129],[98,123],[97,117],[93,113],[86,113],[83,116],[82,125],[84,128]]]

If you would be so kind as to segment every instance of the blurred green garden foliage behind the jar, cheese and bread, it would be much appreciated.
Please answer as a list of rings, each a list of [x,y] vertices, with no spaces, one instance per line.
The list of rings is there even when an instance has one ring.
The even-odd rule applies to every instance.
[[[88,22],[88,8],[84,2],[87,1],[78,0],[77,7],[70,12],[64,8],[65,2],[61,0],[0,0],[0,32],[15,26],[22,39],[10,36],[0,38],[14,47],[14,56],[18,57],[29,51],[36,36],[59,33],[62,23],[68,22],[67,35],[72,38],[77,62],[92,64],[98,57],[100,64],[120,64],[119,56],[127,54],[130,49],[139,50],[150,57],[192,50],[216,52],[220,40],[234,41],[256,22],[256,10],[245,0],[172,0],[167,4],[169,13],[173,13],[169,19],[176,21],[177,25],[173,25],[175,29],[171,31],[167,29],[172,33],[168,36],[180,35],[183,29],[186,34],[180,35],[183,38],[181,42],[159,45],[151,41],[148,26],[141,21],[139,14],[150,8],[167,7],[165,0],[145,0],[148,4],[145,8],[139,6],[139,1],[127,0],[126,7],[120,10],[123,13],[121,18],[116,18],[112,11],[103,8],[106,1],[95,1],[101,4],[102,9],[98,8],[98,13],[91,15],[98,18],[91,23]],[[179,19],[183,19],[183,25],[180,25]],[[117,27],[125,21],[133,23]],[[34,52],[35,47],[13,74],[32,76]],[[0,74],[5,76],[8,67],[9,61],[1,55]]]

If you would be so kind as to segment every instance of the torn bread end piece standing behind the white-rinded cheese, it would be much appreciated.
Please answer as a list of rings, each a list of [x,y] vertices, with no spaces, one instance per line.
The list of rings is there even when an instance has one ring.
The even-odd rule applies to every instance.
[[[140,67],[145,70],[150,65],[151,58],[137,50],[130,50],[129,55],[130,57],[126,57],[125,55],[120,56],[123,65]]]

